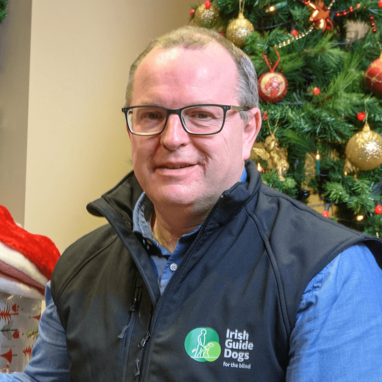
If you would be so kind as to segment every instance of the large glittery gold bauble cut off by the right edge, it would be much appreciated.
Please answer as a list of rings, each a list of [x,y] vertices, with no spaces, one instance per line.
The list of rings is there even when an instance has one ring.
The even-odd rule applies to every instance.
[[[346,144],[346,159],[359,170],[373,170],[382,164],[382,136],[365,123]]]

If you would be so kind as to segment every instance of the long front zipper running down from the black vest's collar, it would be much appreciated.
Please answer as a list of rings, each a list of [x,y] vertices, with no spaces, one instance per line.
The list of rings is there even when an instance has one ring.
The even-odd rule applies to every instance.
[[[170,286],[172,285],[172,283],[174,282],[174,278],[175,278],[175,274],[179,273],[179,269],[181,268],[181,265],[183,264],[183,262],[185,261],[185,259],[189,256],[189,254],[191,253],[191,251],[193,250],[195,244],[197,243],[197,241],[199,240],[200,236],[202,235],[202,231],[204,229],[204,227],[206,226],[210,216],[212,215],[212,212],[214,212],[215,208],[216,208],[216,205],[219,203],[219,201],[221,199],[223,199],[223,197],[226,195],[226,192],[224,192],[222,195],[220,195],[219,199],[215,202],[214,206],[210,209],[210,212],[208,213],[206,219],[204,220],[204,222],[202,223],[200,229],[199,229],[199,232],[197,233],[196,235],[196,238],[195,240],[192,242],[191,246],[188,248],[188,251],[185,253],[185,255],[182,257],[179,265],[178,265],[178,268],[176,268],[176,271],[174,272],[174,274],[172,275],[172,277],[170,278],[170,280],[168,281],[167,285],[166,285],[166,288],[165,290],[163,291],[162,295],[160,296],[159,300],[157,301],[157,304],[155,305],[155,308],[154,308],[154,312],[152,313],[151,315],[151,319],[150,319],[150,324],[149,324],[149,329],[147,330],[146,332],[146,336],[144,338],[142,338],[142,341],[141,343],[143,343],[143,346],[141,348],[141,351],[139,352],[139,355],[141,355],[141,352],[143,351],[143,360],[142,360],[142,363],[141,363],[141,368],[142,370],[139,371],[138,369],[138,363],[139,363],[139,359],[137,359],[137,369],[138,369],[138,374],[136,374],[136,376],[139,375],[139,379],[138,379],[138,382],[142,382],[142,379],[143,379],[143,374],[144,374],[144,369],[145,369],[145,366],[146,366],[146,362],[147,362],[147,346],[144,347],[145,345],[147,345],[147,342],[151,336],[151,332],[152,332],[152,328],[154,327],[155,325],[155,322],[157,320],[157,316],[158,316],[158,311],[159,311],[159,306],[162,305],[162,301],[163,299],[165,298],[165,296],[167,295],[167,291],[168,289],[170,288]]]

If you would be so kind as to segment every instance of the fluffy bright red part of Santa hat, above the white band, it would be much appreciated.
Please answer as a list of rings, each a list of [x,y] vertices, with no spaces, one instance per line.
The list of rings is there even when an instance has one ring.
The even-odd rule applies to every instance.
[[[0,206],[0,242],[23,254],[50,280],[60,257],[57,247],[46,236],[34,235],[19,227],[4,206]]]

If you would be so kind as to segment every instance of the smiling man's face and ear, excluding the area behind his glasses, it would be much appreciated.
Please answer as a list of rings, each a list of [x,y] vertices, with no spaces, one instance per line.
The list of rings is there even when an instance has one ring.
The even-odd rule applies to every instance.
[[[131,105],[177,109],[195,104],[239,105],[233,58],[219,45],[203,50],[152,50],[138,66]],[[256,117],[253,115],[256,113]],[[188,134],[171,114],[162,133],[129,132],[135,175],[155,206],[208,211],[225,189],[240,180],[261,124],[259,109],[244,122],[228,110],[223,130]]]

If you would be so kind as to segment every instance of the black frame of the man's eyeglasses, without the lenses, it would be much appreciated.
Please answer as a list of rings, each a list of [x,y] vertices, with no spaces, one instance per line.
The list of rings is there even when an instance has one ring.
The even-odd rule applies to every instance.
[[[182,112],[183,110],[185,109],[188,109],[190,107],[198,107],[198,106],[219,106],[223,109],[223,123],[222,123],[222,127],[220,128],[219,131],[216,131],[215,133],[204,133],[204,134],[199,134],[199,133],[191,133],[191,131],[188,131],[188,129],[186,128],[186,125],[185,125],[185,121],[183,120],[183,117],[182,117]],[[127,115],[128,115],[128,112],[130,109],[133,109],[133,108],[137,108],[137,107],[154,107],[154,108],[158,108],[158,109],[161,109],[161,110],[165,110],[166,112],[166,120],[165,120],[165,123],[163,124],[163,127],[160,131],[156,132],[156,133],[137,133],[136,131],[132,131],[130,126],[129,126],[129,122],[128,122],[128,118],[127,118]],[[217,133],[220,133],[220,131],[222,131],[223,129],[223,126],[224,126],[224,122],[225,122],[225,116],[226,116],[226,113],[228,110],[235,110],[236,112],[241,112],[241,111],[246,111],[248,109],[244,109],[242,108],[241,106],[234,106],[234,105],[218,105],[218,104],[198,104],[198,105],[189,105],[189,106],[185,106],[185,107],[181,107],[180,109],[167,109],[165,107],[161,107],[161,106],[157,106],[157,105],[136,105],[136,106],[129,106],[129,107],[123,107],[122,108],[122,112],[125,113],[125,118],[126,118],[126,124],[127,124],[127,127],[130,131],[130,133],[132,134],[136,134],[136,135],[158,135],[160,133],[162,133],[162,131],[164,130],[164,128],[166,127],[166,124],[167,124],[167,120],[168,120],[168,116],[170,114],[177,114],[179,116],[179,119],[180,119],[180,123],[183,127],[183,129],[188,133],[188,134],[192,134],[192,135],[199,135],[199,136],[203,136],[203,135],[213,135],[213,134],[217,134]]]

